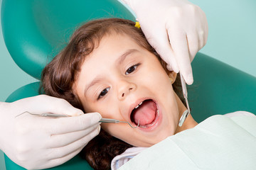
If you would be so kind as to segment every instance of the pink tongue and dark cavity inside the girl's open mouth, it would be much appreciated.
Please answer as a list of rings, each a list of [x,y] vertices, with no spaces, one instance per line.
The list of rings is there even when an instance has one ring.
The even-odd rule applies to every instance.
[[[133,120],[136,124],[147,125],[153,122],[156,117],[156,103],[152,100],[147,100],[142,103],[139,108],[133,111]]]

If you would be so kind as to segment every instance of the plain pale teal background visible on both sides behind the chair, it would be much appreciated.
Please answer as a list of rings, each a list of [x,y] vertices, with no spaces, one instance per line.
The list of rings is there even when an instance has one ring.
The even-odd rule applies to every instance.
[[[201,52],[256,77],[256,1],[191,0],[191,2],[198,4],[208,18],[208,42]],[[4,44],[2,33],[0,33],[0,80],[0,101],[5,101],[19,87],[37,81],[23,72],[12,60]],[[0,152],[0,170],[4,169],[1,155]]]

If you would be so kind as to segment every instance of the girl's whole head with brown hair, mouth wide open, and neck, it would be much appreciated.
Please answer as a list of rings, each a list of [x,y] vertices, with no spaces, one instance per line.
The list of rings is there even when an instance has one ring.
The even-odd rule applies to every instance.
[[[157,30],[156,30],[157,31]],[[102,123],[100,135],[81,152],[94,169],[110,169],[129,147],[150,147],[197,123],[181,101],[177,74],[169,72],[135,23],[119,18],[90,21],[42,73],[46,94],[64,98],[85,113],[127,121]]]

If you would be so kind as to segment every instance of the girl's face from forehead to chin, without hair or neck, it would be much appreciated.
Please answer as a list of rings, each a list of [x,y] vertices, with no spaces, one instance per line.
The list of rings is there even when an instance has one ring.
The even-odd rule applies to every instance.
[[[175,75],[172,74],[172,79]],[[128,35],[105,35],[85,58],[73,86],[87,113],[127,123],[102,123],[110,135],[149,147],[174,135],[178,96],[157,57]]]

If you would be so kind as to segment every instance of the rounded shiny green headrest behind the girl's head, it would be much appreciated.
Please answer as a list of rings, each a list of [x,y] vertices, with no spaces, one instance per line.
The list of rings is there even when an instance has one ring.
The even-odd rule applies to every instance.
[[[36,79],[81,23],[95,18],[134,16],[114,0],[3,0],[1,26],[18,67]]]

